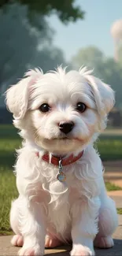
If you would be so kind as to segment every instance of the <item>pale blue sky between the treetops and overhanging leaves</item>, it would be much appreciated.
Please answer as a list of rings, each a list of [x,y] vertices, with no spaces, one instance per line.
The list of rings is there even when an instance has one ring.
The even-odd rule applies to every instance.
[[[112,24],[122,19],[122,0],[76,0],[76,4],[86,12],[84,20],[68,25],[56,17],[50,17],[54,28],[54,45],[60,47],[65,58],[70,60],[79,48],[97,46],[106,56],[113,56]]]

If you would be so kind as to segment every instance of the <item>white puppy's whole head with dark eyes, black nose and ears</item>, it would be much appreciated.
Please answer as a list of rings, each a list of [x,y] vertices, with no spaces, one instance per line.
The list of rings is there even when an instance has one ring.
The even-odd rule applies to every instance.
[[[85,147],[113,106],[112,89],[86,69],[65,73],[60,68],[44,75],[35,70],[27,76],[6,97],[17,128],[53,153]]]

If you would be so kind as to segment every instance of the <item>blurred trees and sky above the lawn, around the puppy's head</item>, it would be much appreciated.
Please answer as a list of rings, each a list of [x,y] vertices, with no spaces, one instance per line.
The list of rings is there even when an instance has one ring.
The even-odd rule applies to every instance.
[[[0,91],[41,67],[87,65],[116,91],[109,125],[122,125],[122,2],[0,0]],[[0,123],[11,123],[4,97]]]

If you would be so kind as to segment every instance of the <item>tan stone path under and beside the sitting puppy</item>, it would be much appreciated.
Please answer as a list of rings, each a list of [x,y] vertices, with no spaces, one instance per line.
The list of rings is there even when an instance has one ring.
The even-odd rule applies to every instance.
[[[122,187],[122,161],[105,162],[105,180]],[[116,208],[122,208],[122,190],[109,191],[108,195],[116,202]],[[114,247],[110,249],[95,249],[96,256],[122,256],[122,215],[119,217],[119,227],[113,234]],[[18,247],[12,247],[10,244],[11,236],[0,236],[0,255],[17,255]],[[58,247],[52,250],[45,250],[49,256],[69,256],[71,247]]]

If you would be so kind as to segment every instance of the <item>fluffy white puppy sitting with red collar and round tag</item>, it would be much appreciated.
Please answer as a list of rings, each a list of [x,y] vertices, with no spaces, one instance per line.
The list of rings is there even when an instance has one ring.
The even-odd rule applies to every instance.
[[[6,92],[24,139],[15,166],[19,197],[10,212],[20,255],[43,255],[44,247],[71,241],[72,256],[94,255],[94,245],[113,247],[116,206],[93,147],[113,104],[113,90],[86,68],[31,70]]]

